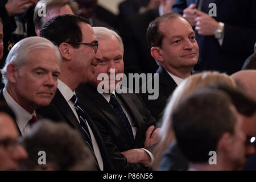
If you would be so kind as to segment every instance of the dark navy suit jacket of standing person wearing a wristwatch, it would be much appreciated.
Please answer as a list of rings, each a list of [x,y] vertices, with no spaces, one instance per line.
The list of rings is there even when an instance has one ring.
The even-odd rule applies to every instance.
[[[186,7],[198,2],[199,0],[177,0],[172,11],[183,14]],[[223,44],[220,46],[214,36],[196,33],[200,59],[195,70],[217,70],[232,74],[239,71],[245,59],[253,53],[256,42],[256,1],[212,2],[217,5],[217,16],[213,18],[225,23]]]

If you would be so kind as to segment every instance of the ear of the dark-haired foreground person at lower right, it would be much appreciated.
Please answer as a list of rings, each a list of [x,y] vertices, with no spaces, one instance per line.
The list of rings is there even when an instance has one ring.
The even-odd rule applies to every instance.
[[[221,138],[218,140],[217,149],[230,153],[233,150],[233,138],[230,133],[222,134]]]

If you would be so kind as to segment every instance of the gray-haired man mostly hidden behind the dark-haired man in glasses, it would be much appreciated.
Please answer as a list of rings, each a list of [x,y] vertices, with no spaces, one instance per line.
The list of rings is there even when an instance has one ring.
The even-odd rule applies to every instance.
[[[44,9],[45,7],[45,9]],[[78,14],[79,6],[77,2],[73,0],[41,0],[35,7],[34,10],[34,24],[36,35],[40,35],[41,28],[48,22],[58,15],[64,14]],[[43,10],[46,10],[44,12]],[[46,13],[45,15],[43,13]]]

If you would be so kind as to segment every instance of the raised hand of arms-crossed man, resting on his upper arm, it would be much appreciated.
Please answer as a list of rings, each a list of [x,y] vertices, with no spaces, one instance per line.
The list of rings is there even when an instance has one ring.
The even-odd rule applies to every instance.
[[[144,142],[144,146],[148,147],[148,146],[152,146],[153,144],[155,144],[156,142],[158,142],[159,140],[159,132],[160,129],[155,129],[155,126],[150,126],[148,127],[147,131],[146,131],[146,139]]]

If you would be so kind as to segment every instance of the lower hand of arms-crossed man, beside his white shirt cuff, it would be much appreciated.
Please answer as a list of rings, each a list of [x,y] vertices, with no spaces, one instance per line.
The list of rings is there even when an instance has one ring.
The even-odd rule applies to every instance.
[[[125,156],[129,163],[141,163],[144,166],[148,166],[151,163],[150,155],[141,148],[123,151],[121,154]]]

